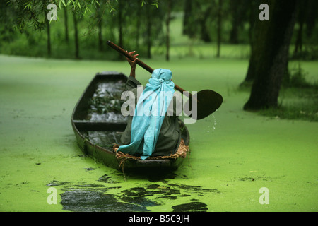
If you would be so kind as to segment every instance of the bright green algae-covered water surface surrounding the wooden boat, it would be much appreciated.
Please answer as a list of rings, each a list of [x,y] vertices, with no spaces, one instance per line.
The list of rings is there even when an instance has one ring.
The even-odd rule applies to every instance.
[[[0,56],[0,210],[317,211],[318,124],[244,112],[248,94],[234,87],[247,61],[190,62],[149,65],[171,69],[186,90],[215,90],[223,105],[187,124],[191,153],[177,171],[124,177],[83,155],[71,113],[95,73],[129,75],[126,62]],[[303,67],[317,78],[316,63]],[[150,74],[137,68],[136,76],[146,84]]]

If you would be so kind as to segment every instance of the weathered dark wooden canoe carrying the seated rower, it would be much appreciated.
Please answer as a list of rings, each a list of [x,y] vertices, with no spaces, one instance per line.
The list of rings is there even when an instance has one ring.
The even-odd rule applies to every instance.
[[[117,153],[118,143],[126,128],[126,117],[114,109],[121,104],[120,95],[127,77],[123,73],[97,73],[78,100],[71,124],[83,153],[114,169],[177,169],[189,151],[189,132],[180,120],[182,140],[174,155],[140,157]],[[105,97],[107,96],[107,97]],[[109,106],[109,107],[108,107]],[[120,108],[119,108],[120,109]]]

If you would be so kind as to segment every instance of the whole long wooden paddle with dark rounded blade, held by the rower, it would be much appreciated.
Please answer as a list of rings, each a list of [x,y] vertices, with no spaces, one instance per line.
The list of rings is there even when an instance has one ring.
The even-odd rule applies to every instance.
[[[110,41],[107,41],[107,44],[113,49],[115,49],[117,52],[123,54],[126,58],[130,59],[131,61],[134,61],[136,59],[135,57],[131,56],[131,54],[124,51],[124,49],[117,46],[117,44],[114,44]],[[143,61],[141,61],[140,59],[136,59],[136,64],[141,66],[143,69],[146,69],[150,73],[153,73],[153,69],[147,64],[143,63]],[[192,99],[194,100],[194,104],[196,104],[197,106],[197,115],[196,117],[191,115],[191,117],[197,120],[208,117],[208,115],[215,112],[223,102],[223,97],[220,94],[214,92],[213,90],[201,90],[198,93],[192,95],[187,90],[184,90],[181,87],[179,87],[179,85],[175,84],[175,89],[183,93],[183,95],[189,97],[189,109],[192,109]]]

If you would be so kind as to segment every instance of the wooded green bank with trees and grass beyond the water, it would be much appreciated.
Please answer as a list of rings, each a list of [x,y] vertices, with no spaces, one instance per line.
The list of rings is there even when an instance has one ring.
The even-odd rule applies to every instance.
[[[50,3],[56,20],[47,19]],[[107,47],[111,40],[143,59],[249,59],[239,85],[251,93],[244,109],[317,121],[317,82],[301,64],[318,59],[317,12],[314,0],[1,1],[0,53],[125,60]],[[281,87],[300,88],[311,103],[283,109]]]

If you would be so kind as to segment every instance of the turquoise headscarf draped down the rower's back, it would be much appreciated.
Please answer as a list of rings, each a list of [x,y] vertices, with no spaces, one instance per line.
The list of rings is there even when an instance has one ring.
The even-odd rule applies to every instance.
[[[117,151],[131,155],[142,153],[143,160],[152,155],[167,107],[175,93],[171,78],[170,70],[153,71],[136,105],[131,123],[131,143],[119,146]]]

